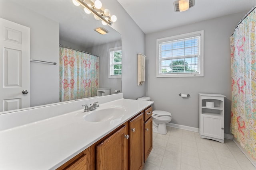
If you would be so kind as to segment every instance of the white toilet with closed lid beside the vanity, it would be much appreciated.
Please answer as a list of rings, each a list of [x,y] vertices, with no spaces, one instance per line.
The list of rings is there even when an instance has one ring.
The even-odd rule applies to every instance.
[[[146,100],[150,101],[150,97],[142,97],[138,98],[137,100]],[[154,110],[152,113],[153,117],[153,132],[160,133],[160,134],[166,134],[166,123],[170,122],[172,120],[172,114],[168,111],[162,111],[162,110]]]

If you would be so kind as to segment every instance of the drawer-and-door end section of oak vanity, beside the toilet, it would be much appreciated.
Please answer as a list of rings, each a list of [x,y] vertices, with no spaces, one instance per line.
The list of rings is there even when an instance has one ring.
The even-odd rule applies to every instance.
[[[144,162],[148,159],[148,156],[153,149],[153,107],[150,106],[144,111]]]

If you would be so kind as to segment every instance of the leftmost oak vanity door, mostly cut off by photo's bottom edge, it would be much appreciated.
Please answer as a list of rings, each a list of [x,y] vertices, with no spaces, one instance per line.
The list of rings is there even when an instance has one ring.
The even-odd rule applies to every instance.
[[[68,162],[57,168],[57,170],[90,170],[89,148],[70,159]]]

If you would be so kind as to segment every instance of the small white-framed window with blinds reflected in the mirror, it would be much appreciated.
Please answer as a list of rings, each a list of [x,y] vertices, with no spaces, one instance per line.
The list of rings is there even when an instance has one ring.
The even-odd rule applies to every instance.
[[[120,78],[122,75],[122,47],[109,49],[109,78]]]

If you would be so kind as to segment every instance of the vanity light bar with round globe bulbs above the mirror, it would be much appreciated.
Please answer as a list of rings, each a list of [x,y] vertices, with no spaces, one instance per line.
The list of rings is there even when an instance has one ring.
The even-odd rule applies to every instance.
[[[101,10],[102,3],[100,0],[96,0],[94,4],[86,4],[85,0],[72,0],[72,2],[75,6],[81,5],[84,7],[84,12],[86,12],[86,14],[90,14],[92,12],[96,20],[102,20],[103,25],[112,25],[112,23],[116,21],[116,16],[110,16],[110,10]]]

